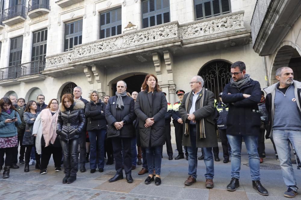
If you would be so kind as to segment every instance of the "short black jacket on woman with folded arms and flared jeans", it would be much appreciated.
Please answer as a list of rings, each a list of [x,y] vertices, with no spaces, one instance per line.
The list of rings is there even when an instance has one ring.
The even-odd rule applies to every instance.
[[[87,130],[107,129],[105,112],[106,105],[101,102],[101,100],[97,103],[94,103],[93,101],[87,103],[85,108]]]

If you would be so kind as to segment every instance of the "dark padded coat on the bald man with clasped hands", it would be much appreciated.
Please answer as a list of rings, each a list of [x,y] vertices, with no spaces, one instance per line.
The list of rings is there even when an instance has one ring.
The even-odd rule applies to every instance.
[[[106,106],[106,120],[108,122],[107,137],[134,137],[135,130],[133,121],[136,118],[134,105],[135,101],[132,97],[122,97],[124,108],[116,109],[117,96],[110,97]],[[115,122],[126,121],[126,124],[120,130],[114,126]]]

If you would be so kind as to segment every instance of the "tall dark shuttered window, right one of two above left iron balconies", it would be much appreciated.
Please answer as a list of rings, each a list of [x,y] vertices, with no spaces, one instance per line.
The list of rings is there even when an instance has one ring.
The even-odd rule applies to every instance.
[[[46,61],[47,29],[33,33],[33,48],[31,51],[31,61]]]

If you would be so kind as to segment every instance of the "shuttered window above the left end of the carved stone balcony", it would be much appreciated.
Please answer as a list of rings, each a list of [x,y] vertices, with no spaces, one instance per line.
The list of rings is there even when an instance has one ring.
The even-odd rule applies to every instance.
[[[73,46],[82,43],[82,19],[65,24],[64,51],[70,51]]]

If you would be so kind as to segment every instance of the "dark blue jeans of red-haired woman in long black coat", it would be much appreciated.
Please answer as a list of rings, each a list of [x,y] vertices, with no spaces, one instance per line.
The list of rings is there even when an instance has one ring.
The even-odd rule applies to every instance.
[[[153,170],[155,168],[156,175],[160,175],[161,161],[162,161],[162,157],[161,157],[162,149],[163,149],[163,145],[145,148],[149,174],[153,174]]]

